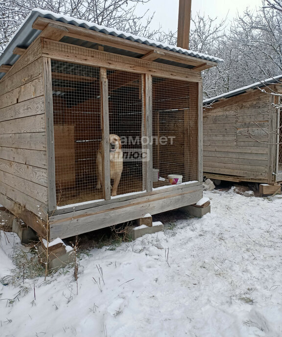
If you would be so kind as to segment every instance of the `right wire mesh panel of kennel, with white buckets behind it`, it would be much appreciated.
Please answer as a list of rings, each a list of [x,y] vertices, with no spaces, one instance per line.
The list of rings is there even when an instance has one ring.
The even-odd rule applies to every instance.
[[[198,84],[153,77],[153,187],[197,180]]]

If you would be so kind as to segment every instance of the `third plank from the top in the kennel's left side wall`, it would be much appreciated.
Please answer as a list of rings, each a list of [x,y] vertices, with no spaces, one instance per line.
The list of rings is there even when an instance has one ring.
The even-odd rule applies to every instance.
[[[43,81],[42,77],[39,77],[22,87],[14,89],[4,95],[0,95],[0,108],[4,108],[24,100],[28,100],[33,97],[43,95]]]

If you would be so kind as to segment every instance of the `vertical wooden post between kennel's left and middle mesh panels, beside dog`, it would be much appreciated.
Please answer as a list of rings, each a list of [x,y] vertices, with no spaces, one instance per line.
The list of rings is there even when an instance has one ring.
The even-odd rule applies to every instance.
[[[103,192],[105,200],[111,199],[110,179],[110,140],[109,140],[109,104],[107,69],[100,68],[101,80],[101,127],[102,127],[102,163],[103,163]]]

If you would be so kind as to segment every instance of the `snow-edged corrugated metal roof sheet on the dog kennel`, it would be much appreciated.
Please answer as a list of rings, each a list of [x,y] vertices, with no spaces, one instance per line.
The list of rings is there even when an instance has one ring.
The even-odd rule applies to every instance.
[[[79,20],[75,18],[71,18],[69,16],[56,14],[50,11],[42,10],[35,8],[33,9],[30,14],[25,18],[24,22],[21,24],[21,26],[18,28],[16,33],[14,34],[13,38],[10,40],[10,42],[7,44],[6,48],[4,49],[3,53],[0,55],[0,65],[13,65],[17,59],[20,57],[20,55],[14,55],[13,50],[16,47],[21,48],[27,48],[32,41],[34,41],[37,36],[41,33],[41,30],[33,29],[32,24],[34,21],[38,18],[47,18],[54,21],[63,22],[66,24],[73,24],[79,27],[83,27],[86,29],[91,29],[100,33],[113,35],[122,39],[138,42],[141,44],[153,46],[155,48],[161,48],[165,50],[174,51],[180,54],[189,55],[192,57],[200,58],[203,60],[213,61],[216,63],[223,62],[222,59],[218,57],[214,57],[211,55],[202,54],[196,51],[187,50],[175,46],[166,45],[162,42],[157,42],[153,40],[149,40],[147,38],[141,38],[136,35],[132,35],[126,32],[118,31],[114,28],[108,28],[104,27],[98,24],[93,24],[84,20]],[[4,75],[3,72],[0,73],[0,78]]]

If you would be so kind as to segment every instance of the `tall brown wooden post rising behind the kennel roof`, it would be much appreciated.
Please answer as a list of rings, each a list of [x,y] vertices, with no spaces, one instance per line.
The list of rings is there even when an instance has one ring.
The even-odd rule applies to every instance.
[[[179,0],[177,47],[189,49],[191,0]]]

